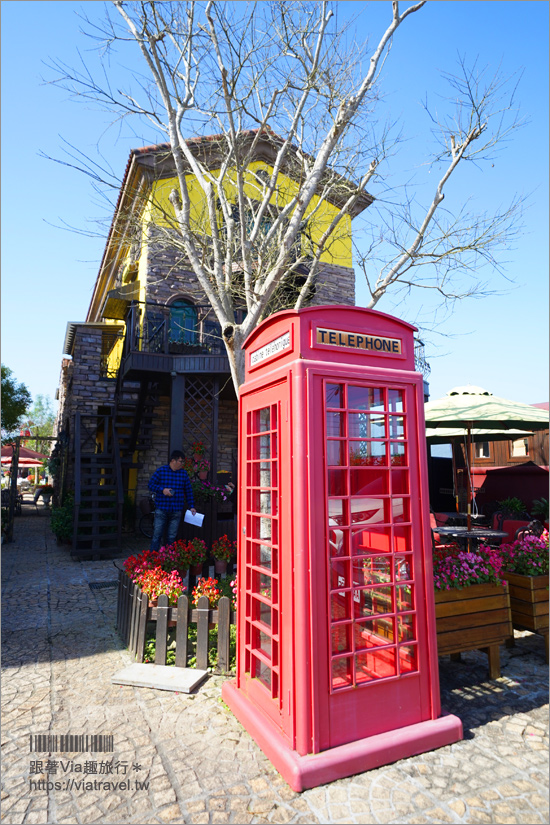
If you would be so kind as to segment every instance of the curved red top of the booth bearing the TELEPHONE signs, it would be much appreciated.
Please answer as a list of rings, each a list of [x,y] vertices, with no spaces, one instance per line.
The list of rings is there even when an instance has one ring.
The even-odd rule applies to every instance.
[[[296,358],[414,370],[415,331],[405,321],[362,307],[284,310],[246,339],[246,378],[260,377]]]

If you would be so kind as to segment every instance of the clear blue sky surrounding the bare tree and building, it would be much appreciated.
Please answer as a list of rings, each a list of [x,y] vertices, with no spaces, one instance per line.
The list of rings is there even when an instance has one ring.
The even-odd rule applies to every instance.
[[[33,396],[53,397],[67,321],[85,319],[104,247],[100,238],[53,225],[94,229],[94,219],[107,213],[88,178],[40,153],[61,156],[64,138],[94,157],[99,148],[122,176],[130,149],[157,136],[108,128],[107,113],[42,80],[52,77],[45,62],[76,65],[79,49],[98,65],[75,12],[100,19],[103,3],[6,0],[1,9],[2,362]],[[529,196],[525,234],[506,255],[505,273],[515,283],[493,277],[506,294],[459,304],[443,330],[450,337],[423,334],[432,398],[472,383],[525,403],[548,400],[548,11],[547,2],[530,0],[433,0],[398,31],[385,67],[383,111],[402,120],[407,138],[390,172],[418,176],[423,198],[431,181],[420,166],[429,138],[420,101],[426,94],[435,101],[438,73],[454,71],[458,53],[504,74],[524,72],[519,102],[528,125],[493,167],[469,170],[446,200],[452,209],[472,197],[490,211],[516,193]],[[374,39],[390,20],[391,3],[340,2],[339,20],[351,14],[359,36]],[[115,63],[106,70],[119,71]],[[357,303],[365,301],[358,278]],[[396,309],[388,297],[377,309],[414,323],[426,304],[411,300]]]

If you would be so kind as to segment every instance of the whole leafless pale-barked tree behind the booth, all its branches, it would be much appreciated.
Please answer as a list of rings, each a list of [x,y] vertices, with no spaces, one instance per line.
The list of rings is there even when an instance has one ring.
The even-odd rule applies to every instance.
[[[374,118],[377,81],[394,34],[424,4],[400,10],[393,2],[388,27],[369,49],[350,47],[345,32],[334,31],[327,2],[114,0],[119,22],[108,17],[95,37],[106,50],[137,45],[145,75],[118,91],[108,73],[99,83],[86,67],[54,64],[59,77],[53,82],[99,100],[119,117],[145,119],[155,134],[165,135],[178,185],[159,232],[179,246],[213,307],[236,387],[244,380],[242,343],[273,311],[277,293],[305,266],[307,277],[294,297],[299,309],[344,219],[372,201],[366,187],[379,179],[392,148],[390,132]],[[496,218],[459,215],[447,226],[436,217],[459,164],[487,153],[507,134],[502,123],[489,130],[500,86],[480,95],[474,75],[465,70],[462,80],[450,78],[463,103],[455,122],[438,124],[444,142],[438,160],[447,168],[433,202],[421,220],[410,199],[401,215],[390,211],[386,219],[398,252],[370,285],[373,306],[390,287],[415,282],[413,267],[423,263],[435,265],[435,288],[448,297],[450,274],[471,266],[467,253],[492,260],[491,250],[511,231],[518,204]],[[501,108],[501,119],[506,111]],[[197,134],[217,136],[209,160],[190,140]],[[271,172],[262,174],[254,161],[266,140]],[[293,184],[282,186],[282,175]],[[191,180],[200,189],[200,220]],[[316,232],[308,232],[314,224]],[[359,262],[370,278],[368,262]],[[237,323],[239,309],[244,317]]]

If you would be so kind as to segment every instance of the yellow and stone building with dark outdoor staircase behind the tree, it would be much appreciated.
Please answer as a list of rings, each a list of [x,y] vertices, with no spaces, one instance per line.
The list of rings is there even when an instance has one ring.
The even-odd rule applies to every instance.
[[[189,144],[214,151],[209,138]],[[271,151],[260,142],[259,162],[269,167]],[[189,263],[162,240],[167,233],[151,219],[147,202],[147,193],[173,177],[165,145],[132,151],[86,320],[67,326],[56,430],[68,444],[64,485],[73,489],[76,482],[77,499],[87,462],[102,488],[118,472],[124,495],[139,502],[170,451],[189,455],[197,441],[210,463],[210,483],[237,480],[237,399],[221,330]],[[363,193],[351,216],[371,201]],[[129,215],[138,215],[133,224]],[[321,259],[309,304],[355,303],[350,232],[334,248],[340,257]],[[297,278],[307,271],[302,267]],[[107,456],[113,449],[116,456]],[[120,494],[117,484],[113,477],[113,495]]]

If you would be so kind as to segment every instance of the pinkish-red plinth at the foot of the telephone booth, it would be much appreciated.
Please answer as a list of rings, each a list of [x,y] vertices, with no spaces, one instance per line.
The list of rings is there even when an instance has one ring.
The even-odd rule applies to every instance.
[[[222,698],[285,782],[297,792],[452,745],[463,738],[458,716],[446,714],[321,753],[300,756],[234,682],[224,683]]]

